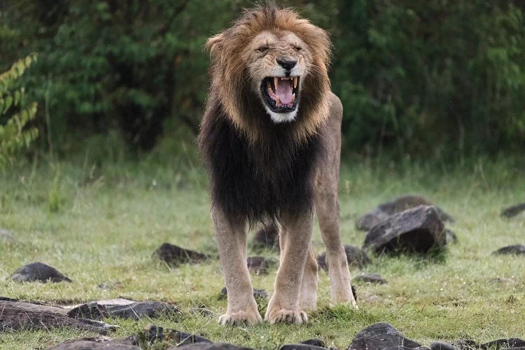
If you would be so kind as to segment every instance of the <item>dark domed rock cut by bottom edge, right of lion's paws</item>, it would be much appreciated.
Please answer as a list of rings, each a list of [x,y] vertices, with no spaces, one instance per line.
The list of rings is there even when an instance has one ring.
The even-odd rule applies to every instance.
[[[405,338],[393,325],[375,323],[358,332],[347,350],[381,350],[390,346],[407,346],[416,349],[421,344]]]

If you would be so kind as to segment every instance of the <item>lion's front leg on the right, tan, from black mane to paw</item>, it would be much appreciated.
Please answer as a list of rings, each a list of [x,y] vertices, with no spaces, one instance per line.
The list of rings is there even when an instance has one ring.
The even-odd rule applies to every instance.
[[[270,323],[305,323],[308,319],[302,309],[301,285],[309,254],[313,220],[311,211],[298,217],[283,215],[281,218],[281,265],[277,271],[274,295],[269,300],[265,316]]]

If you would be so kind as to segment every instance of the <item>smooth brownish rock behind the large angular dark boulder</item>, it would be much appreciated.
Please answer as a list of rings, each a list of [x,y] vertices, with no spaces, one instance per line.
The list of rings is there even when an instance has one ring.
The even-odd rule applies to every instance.
[[[419,195],[404,195],[398,197],[392,202],[380,204],[376,209],[373,209],[367,214],[361,216],[356,223],[356,227],[358,230],[368,231],[378,223],[381,223],[390,218],[393,214],[398,214],[407,209],[419,207],[420,205],[427,206],[433,204],[430,203],[426,198]],[[449,214],[445,213],[438,207],[436,207],[436,209],[442,221],[454,222],[454,218],[452,218]]]

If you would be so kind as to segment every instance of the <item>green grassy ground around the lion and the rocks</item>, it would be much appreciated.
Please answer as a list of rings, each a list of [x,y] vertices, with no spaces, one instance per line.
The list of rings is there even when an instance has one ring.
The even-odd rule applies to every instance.
[[[345,244],[363,244],[365,233],[354,227],[358,216],[406,193],[424,195],[454,216],[456,223],[448,226],[458,243],[449,246],[444,260],[374,256],[365,269],[352,269],[353,275],[376,272],[388,280],[356,286],[359,311],[330,309],[328,276],[321,271],[318,311],[307,325],[225,328],[216,318],[188,313],[202,304],[217,316],[225,311],[226,302],[218,297],[224,283],[218,260],[170,269],[152,258],[164,242],[216,254],[206,175],[195,164],[190,158],[168,165],[117,161],[102,167],[46,160],[1,173],[0,228],[13,237],[0,241],[0,296],[48,304],[112,297],[174,302],[183,317],[109,319],[120,325],[111,337],[154,323],[260,349],[312,337],[346,349],[356,332],[379,321],[425,345],[437,339],[525,337],[525,258],[491,255],[500,246],[525,244],[525,216],[499,215],[503,207],[525,201],[522,168],[482,160],[454,169],[346,162],[339,197]],[[317,229],[314,246],[317,253],[323,251]],[[276,257],[277,252],[262,255]],[[56,267],[73,283],[8,280],[15,269],[34,261]],[[253,275],[253,285],[271,293],[274,277],[275,269]],[[503,281],[491,282],[495,278]],[[102,290],[100,283],[115,288]],[[88,335],[69,329],[3,332],[0,348],[45,349]]]

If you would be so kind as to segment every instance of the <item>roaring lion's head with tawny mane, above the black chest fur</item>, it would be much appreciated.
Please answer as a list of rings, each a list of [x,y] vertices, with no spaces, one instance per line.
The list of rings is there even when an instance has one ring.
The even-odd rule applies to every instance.
[[[246,10],[209,38],[211,100],[256,141],[261,123],[293,123],[304,139],[328,116],[330,40],[289,8]],[[266,120],[262,120],[266,118]]]

